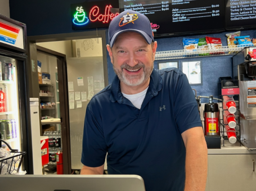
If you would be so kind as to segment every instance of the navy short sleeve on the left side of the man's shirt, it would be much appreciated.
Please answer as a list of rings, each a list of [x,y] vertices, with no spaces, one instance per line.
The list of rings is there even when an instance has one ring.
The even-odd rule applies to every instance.
[[[98,117],[100,119],[100,117]],[[104,164],[107,153],[107,146],[104,138],[104,131],[101,122],[89,108],[86,110],[84,120],[83,148],[81,162],[89,167],[98,167]]]

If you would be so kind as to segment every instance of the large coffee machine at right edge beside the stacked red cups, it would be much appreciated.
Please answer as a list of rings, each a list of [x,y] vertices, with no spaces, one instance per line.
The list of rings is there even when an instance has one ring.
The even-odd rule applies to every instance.
[[[239,80],[241,143],[256,150],[256,46],[233,56],[233,79]]]

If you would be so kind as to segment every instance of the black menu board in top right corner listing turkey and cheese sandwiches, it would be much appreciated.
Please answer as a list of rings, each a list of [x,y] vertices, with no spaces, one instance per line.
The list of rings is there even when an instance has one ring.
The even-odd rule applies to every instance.
[[[256,28],[256,1],[226,0],[226,29]]]

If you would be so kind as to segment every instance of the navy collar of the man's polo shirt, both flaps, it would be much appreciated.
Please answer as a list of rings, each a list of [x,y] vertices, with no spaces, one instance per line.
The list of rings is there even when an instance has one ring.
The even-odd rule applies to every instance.
[[[163,88],[163,79],[158,74],[156,70],[153,70],[150,75],[150,83],[149,89],[147,92],[151,92],[152,95],[156,96],[158,92]],[[120,80],[117,75],[115,75],[114,80],[111,84],[111,94],[110,94],[110,101],[111,102],[118,102],[123,103],[124,96],[121,92],[120,87]]]

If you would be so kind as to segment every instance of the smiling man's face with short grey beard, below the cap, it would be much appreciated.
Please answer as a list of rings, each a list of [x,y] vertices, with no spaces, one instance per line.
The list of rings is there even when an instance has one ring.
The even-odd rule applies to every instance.
[[[142,35],[122,33],[113,48],[107,46],[113,68],[120,81],[128,86],[138,86],[147,81],[154,67],[157,44],[147,44]]]

